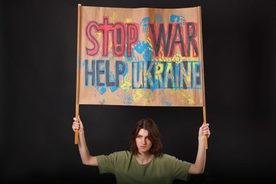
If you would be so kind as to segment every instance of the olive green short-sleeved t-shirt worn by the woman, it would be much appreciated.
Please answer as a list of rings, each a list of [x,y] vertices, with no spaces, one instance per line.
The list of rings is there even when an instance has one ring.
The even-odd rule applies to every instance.
[[[96,156],[100,173],[113,173],[117,184],[122,183],[173,183],[173,180],[188,180],[191,163],[174,156],[154,156],[149,163],[141,165],[130,151],[118,151]]]

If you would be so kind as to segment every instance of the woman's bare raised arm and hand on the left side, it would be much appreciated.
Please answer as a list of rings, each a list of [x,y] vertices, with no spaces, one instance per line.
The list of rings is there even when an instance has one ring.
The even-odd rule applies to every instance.
[[[91,156],[87,144],[86,138],[84,136],[84,125],[81,122],[81,118],[73,118],[74,122],[72,125],[72,129],[75,131],[79,131],[79,154],[81,155],[81,161],[85,165],[88,166],[98,166],[98,162],[96,156]]]

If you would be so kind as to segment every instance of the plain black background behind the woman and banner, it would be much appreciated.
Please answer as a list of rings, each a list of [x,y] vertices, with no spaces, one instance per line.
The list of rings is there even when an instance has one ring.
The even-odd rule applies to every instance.
[[[205,173],[190,183],[272,183],[276,176],[276,16],[273,1],[1,1],[1,183],[115,183],[81,163],[75,113],[77,4],[202,6],[208,140]],[[81,105],[91,154],[128,149],[142,117],[163,152],[195,161],[201,108]],[[176,181],[176,183],[181,183]],[[183,182],[182,182],[183,183]]]

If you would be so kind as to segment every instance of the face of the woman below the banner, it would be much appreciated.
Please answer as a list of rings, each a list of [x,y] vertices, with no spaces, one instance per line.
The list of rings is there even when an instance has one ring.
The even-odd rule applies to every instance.
[[[149,140],[149,132],[147,130],[139,130],[136,137],[136,145],[140,154],[148,154],[151,149],[152,143]]]

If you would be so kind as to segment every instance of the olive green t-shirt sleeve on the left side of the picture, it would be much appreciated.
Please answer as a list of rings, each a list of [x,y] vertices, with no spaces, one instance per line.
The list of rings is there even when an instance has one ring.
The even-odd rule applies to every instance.
[[[117,160],[117,153],[109,155],[96,156],[98,161],[98,169],[100,173],[113,173],[115,172],[115,163]]]

